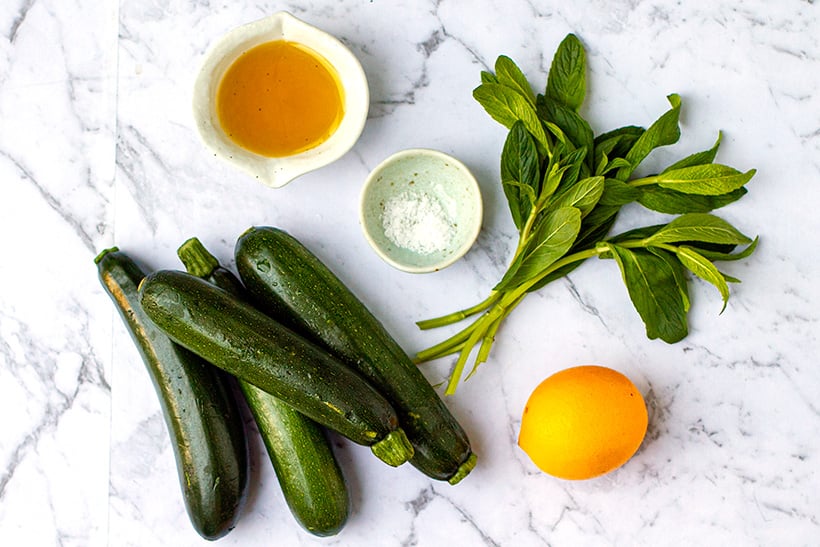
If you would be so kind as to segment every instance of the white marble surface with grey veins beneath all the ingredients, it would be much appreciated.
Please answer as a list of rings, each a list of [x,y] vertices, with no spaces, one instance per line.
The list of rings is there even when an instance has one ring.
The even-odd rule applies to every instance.
[[[284,9],[344,41],[370,82],[370,116],[334,165],[270,190],[217,161],[191,121],[204,51]],[[196,235],[231,260],[248,226],[301,239],[408,351],[438,341],[414,321],[483,298],[514,246],[498,184],[503,129],[471,98],[496,56],[540,86],[558,42],[583,40],[585,115],[597,130],[651,123],[680,93],[683,137],[649,166],[711,145],[756,168],[721,214],[759,234],[725,270],[743,280],[719,315],[693,286],[691,334],[649,341],[611,262],[529,298],[488,363],[447,405],[479,465],[452,487],[388,468],[335,438],[351,518],[314,538],[288,513],[254,445],[252,493],[220,544],[817,545],[820,541],[820,6],[813,0],[202,2],[8,0],[0,7],[0,544],[200,545],[143,365],[93,265],[111,245],[179,267]],[[480,181],[477,245],[450,268],[399,272],[357,220],[371,168],[409,147],[465,162]],[[642,220],[640,210],[626,217]],[[624,467],[564,482],[516,447],[520,413],[550,373],[625,372],[649,434]],[[432,382],[450,363],[426,365]]]

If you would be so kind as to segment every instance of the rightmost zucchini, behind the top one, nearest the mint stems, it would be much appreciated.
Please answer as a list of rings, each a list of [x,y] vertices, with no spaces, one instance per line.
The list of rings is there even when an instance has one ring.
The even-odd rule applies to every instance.
[[[236,243],[239,276],[260,309],[312,338],[367,378],[399,413],[410,462],[456,484],[476,457],[461,425],[365,305],[287,232],[253,227]]]

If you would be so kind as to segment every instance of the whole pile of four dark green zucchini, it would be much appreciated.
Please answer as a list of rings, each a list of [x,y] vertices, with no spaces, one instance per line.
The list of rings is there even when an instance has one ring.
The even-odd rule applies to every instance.
[[[248,488],[250,410],[285,500],[307,531],[338,533],[347,487],[325,428],[456,484],[475,466],[464,430],[365,305],[299,241],[253,227],[239,277],[191,238],[186,271],[145,275],[116,248],[95,259],[146,363],[172,435],[186,508],[217,539]]]

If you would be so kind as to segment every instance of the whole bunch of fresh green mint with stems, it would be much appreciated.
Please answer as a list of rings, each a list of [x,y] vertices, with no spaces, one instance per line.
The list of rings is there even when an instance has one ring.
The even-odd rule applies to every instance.
[[[737,279],[714,262],[748,257],[757,245],[711,211],[746,194],[755,171],[714,163],[720,145],[689,155],[652,176],[634,176],[655,148],[680,138],[678,95],[648,129],[626,126],[595,136],[579,109],[586,95],[586,55],[570,34],[552,60],[543,94],[535,94],[521,69],[500,56],[495,73],[484,71],[475,99],[509,129],[501,153],[501,183],[519,232],[509,268],[481,303],[436,319],[422,329],[474,321],[417,354],[421,363],[458,353],[446,394],[455,392],[478,346],[470,374],[487,360],[502,321],[532,291],[559,279],[588,258],[614,259],[649,338],[668,343],[688,333],[687,271],[729,299]],[[629,203],[664,214],[671,222],[609,236]],[[468,376],[469,377],[469,376]]]

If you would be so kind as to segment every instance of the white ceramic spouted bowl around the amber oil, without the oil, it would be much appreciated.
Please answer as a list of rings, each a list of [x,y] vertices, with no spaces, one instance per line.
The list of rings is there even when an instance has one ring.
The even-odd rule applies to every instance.
[[[222,75],[239,55],[259,44],[282,39],[312,49],[336,69],[344,92],[344,117],[336,132],[315,148],[271,158],[245,150],[225,135],[216,112],[216,94]],[[194,85],[194,118],[205,144],[218,157],[273,188],[343,156],[361,135],[369,106],[367,78],[353,53],[335,37],[284,11],[223,36],[205,55]]]

